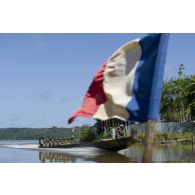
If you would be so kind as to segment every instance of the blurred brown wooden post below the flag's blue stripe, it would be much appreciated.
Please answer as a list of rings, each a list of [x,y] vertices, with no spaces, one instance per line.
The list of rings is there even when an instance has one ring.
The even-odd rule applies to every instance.
[[[155,136],[155,121],[149,120],[146,126],[145,140],[144,140],[144,153],[143,162],[152,162],[153,143]]]

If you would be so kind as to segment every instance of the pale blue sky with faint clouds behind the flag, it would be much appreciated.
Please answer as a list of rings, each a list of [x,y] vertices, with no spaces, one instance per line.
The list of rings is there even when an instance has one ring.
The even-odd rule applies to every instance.
[[[69,127],[94,74],[124,43],[146,34],[0,34],[0,128]],[[171,34],[164,79],[195,74],[195,34]],[[70,126],[92,124],[77,118]]]

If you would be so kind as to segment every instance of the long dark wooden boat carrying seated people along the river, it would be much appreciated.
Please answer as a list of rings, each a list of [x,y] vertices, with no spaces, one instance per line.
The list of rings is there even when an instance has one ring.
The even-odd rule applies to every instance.
[[[43,142],[45,141],[45,144]],[[125,148],[130,147],[133,145],[136,140],[132,137],[124,137],[121,139],[104,139],[100,141],[92,141],[92,142],[67,142],[63,143],[59,140],[56,141],[56,144],[51,144],[49,142],[49,139],[39,140],[39,148],[73,148],[73,147],[96,147],[104,150],[110,150],[110,151],[118,151]]]

